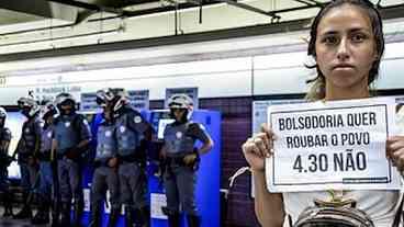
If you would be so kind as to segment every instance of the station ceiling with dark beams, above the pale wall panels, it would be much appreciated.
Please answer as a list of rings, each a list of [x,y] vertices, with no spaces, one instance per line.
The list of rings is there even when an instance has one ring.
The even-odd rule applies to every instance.
[[[7,0],[0,1],[0,56],[209,33],[299,30],[326,0]],[[375,0],[389,20],[404,21],[404,0]],[[267,30],[272,25],[276,29]],[[303,24],[307,27],[307,24]],[[295,29],[293,29],[295,27]],[[252,32],[254,33],[254,32]],[[188,36],[187,36],[188,35]],[[226,35],[224,35],[226,36]],[[171,41],[170,39],[170,41]],[[184,38],[183,38],[184,39]],[[209,39],[209,36],[206,37]],[[170,42],[167,42],[170,44]],[[122,47],[124,48],[124,47]],[[56,52],[55,52],[56,53]],[[2,59],[3,60],[3,59]]]

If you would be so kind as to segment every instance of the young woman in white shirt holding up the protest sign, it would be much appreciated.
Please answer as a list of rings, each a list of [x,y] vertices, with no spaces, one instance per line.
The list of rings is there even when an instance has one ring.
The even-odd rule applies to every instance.
[[[313,56],[317,77],[307,99],[350,100],[371,97],[370,84],[378,76],[384,38],[380,14],[367,0],[335,0],[322,9],[311,27],[307,54]],[[255,207],[262,226],[295,225],[314,198],[327,192],[270,193],[265,180],[265,158],[273,152],[276,139],[270,127],[243,145],[245,158],[252,169],[256,186]],[[404,137],[388,138],[386,154],[399,170],[404,169]],[[343,200],[352,198],[377,227],[391,227],[400,207],[399,191],[340,191]],[[311,226],[311,225],[307,225]],[[329,226],[329,225],[327,225]],[[347,225],[332,225],[347,226]]]

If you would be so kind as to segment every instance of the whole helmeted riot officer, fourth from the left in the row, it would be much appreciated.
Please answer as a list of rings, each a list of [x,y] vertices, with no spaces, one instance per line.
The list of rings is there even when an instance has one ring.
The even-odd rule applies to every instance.
[[[61,201],[60,226],[70,226],[71,198],[74,198],[72,226],[81,226],[83,193],[80,160],[91,139],[89,124],[76,113],[76,101],[69,93],[56,97],[59,116],[54,122],[53,150],[57,156],[57,172]]]

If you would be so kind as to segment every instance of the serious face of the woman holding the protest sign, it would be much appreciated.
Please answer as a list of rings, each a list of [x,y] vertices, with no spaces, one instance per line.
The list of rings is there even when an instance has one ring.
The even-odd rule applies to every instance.
[[[378,53],[364,10],[344,4],[327,12],[317,26],[315,49],[326,80],[326,95],[358,89],[368,91],[369,71]]]

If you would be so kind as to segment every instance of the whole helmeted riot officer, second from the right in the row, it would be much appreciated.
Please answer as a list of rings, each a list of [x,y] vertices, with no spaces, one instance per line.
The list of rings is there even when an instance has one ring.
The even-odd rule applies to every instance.
[[[121,202],[125,205],[125,226],[132,227],[133,213],[138,223],[149,226],[150,209],[147,202],[146,145],[152,137],[152,126],[127,100],[124,89],[110,89],[115,118],[115,138],[120,159],[119,175]]]

